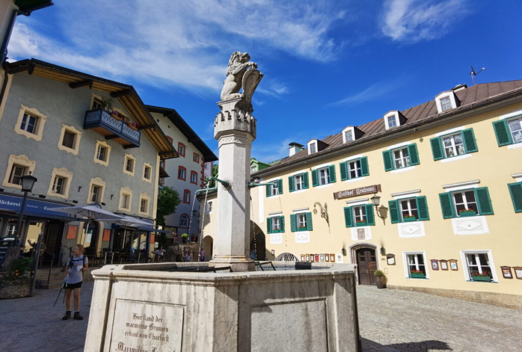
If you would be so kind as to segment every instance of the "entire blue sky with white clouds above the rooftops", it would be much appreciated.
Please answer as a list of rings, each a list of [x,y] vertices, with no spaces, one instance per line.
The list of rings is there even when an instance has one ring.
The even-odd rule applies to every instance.
[[[55,0],[19,16],[11,60],[132,84],[175,108],[217,154],[215,104],[233,51],[265,74],[252,156],[322,139],[460,83],[522,79],[522,2]]]

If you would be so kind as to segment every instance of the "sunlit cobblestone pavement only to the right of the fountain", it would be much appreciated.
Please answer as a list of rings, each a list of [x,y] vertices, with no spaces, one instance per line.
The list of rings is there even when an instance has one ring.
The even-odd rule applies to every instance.
[[[404,290],[358,286],[369,351],[522,351],[522,311]]]

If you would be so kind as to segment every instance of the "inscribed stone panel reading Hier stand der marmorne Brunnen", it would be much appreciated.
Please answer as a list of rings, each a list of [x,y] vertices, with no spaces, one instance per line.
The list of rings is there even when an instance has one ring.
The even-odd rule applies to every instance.
[[[183,306],[117,299],[110,350],[180,351],[182,333]]]

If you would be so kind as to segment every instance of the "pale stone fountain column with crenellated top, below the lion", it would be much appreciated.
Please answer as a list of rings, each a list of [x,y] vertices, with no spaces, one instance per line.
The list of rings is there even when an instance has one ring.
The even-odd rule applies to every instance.
[[[218,187],[217,231],[214,257],[216,266],[233,271],[254,270],[250,259],[250,153],[256,137],[256,120],[241,110],[243,98],[219,102],[221,112],[214,121],[214,138],[219,144],[218,178],[231,187]]]

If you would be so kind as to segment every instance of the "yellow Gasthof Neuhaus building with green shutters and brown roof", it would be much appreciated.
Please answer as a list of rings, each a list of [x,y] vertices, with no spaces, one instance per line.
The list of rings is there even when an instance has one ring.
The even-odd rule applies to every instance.
[[[381,270],[388,288],[522,309],[522,80],[293,143],[251,177],[278,185],[251,189],[258,260],[355,263],[360,284]]]

